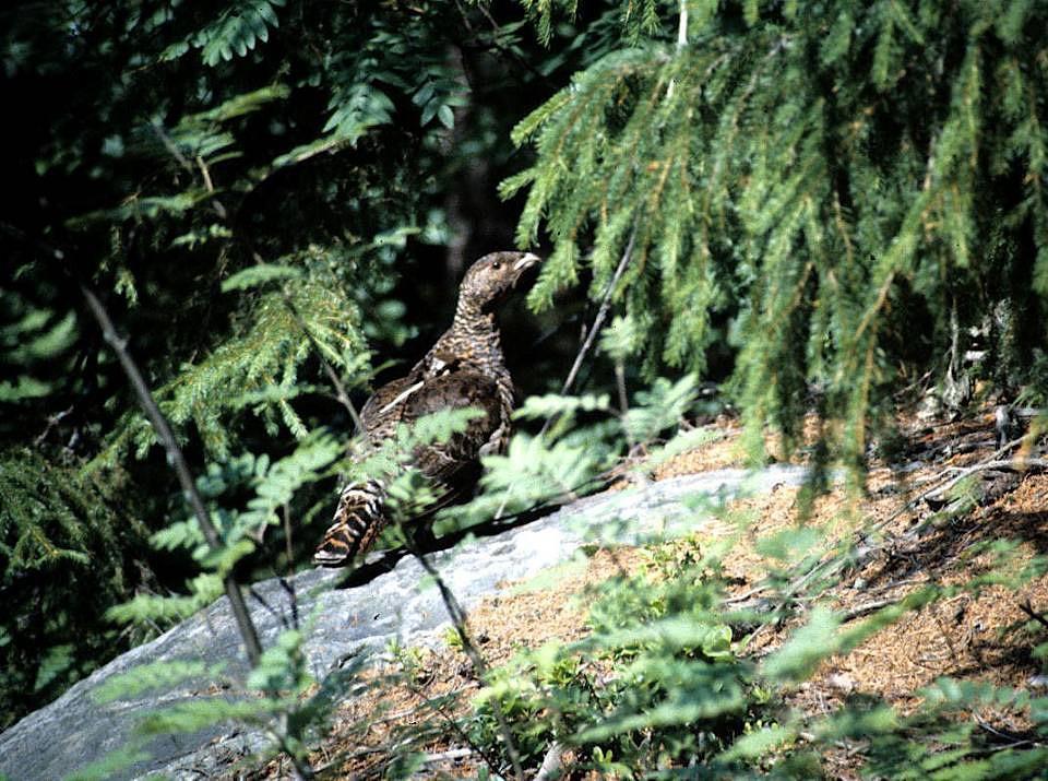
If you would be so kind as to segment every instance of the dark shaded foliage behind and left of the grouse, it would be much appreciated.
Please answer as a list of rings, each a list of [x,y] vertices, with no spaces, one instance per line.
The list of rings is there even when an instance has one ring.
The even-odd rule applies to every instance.
[[[512,153],[524,107],[501,109],[572,59],[525,67],[538,47],[512,32],[522,12],[498,13],[505,29],[486,9],[442,3],[63,0],[0,12],[20,118],[0,224],[0,450],[20,472],[4,497],[4,588],[49,590],[51,620],[94,636],[105,603],[193,572],[180,554],[147,551],[181,498],[80,281],[106,300],[191,461],[216,469],[245,452],[276,462],[320,425],[347,436],[330,375],[359,402],[371,345],[408,355],[416,333],[445,323],[453,224],[478,226],[463,252],[509,244],[490,190],[469,192]],[[334,483],[310,480],[290,508],[302,523]],[[283,549],[282,537],[267,543]],[[88,576],[90,561],[106,564]],[[75,575],[44,576],[57,567]],[[86,590],[91,610],[60,593],[105,572],[110,587]],[[11,630],[45,648],[3,666],[32,681],[50,640],[32,601],[15,605]],[[84,659],[114,650],[87,643]],[[12,701],[0,724],[29,705]]]

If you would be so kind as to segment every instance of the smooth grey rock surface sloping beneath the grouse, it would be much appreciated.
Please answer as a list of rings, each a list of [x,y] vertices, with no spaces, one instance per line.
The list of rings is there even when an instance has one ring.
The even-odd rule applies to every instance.
[[[640,544],[653,535],[675,536],[695,529],[705,514],[702,497],[716,499],[740,490],[763,493],[774,485],[796,485],[802,480],[803,471],[796,466],[772,466],[755,474],[719,470],[606,493],[527,524],[434,553],[431,560],[468,610],[498,582],[533,577],[571,558],[583,544]],[[348,581],[345,570],[313,569],[296,575],[286,584],[277,579],[257,583],[249,602],[262,644],[269,647],[289,622],[286,585],[291,587],[298,614],[312,616],[305,652],[313,675],[321,678],[341,660],[381,650],[393,638],[404,646],[437,642],[448,625],[448,614],[436,588],[420,588],[427,580],[415,558],[386,555],[377,565],[362,567]],[[115,659],[0,734],[0,774],[12,781],[61,779],[124,746],[141,717],[165,705],[193,699],[207,682],[146,691],[109,705],[98,705],[93,694],[115,675],[141,664],[171,660],[226,662],[227,675],[242,679],[247,663],[225,597],[156,640]],[[199,779],[263,744],[260,733],[229,725],[191,735],[165,735],[145,746],[148,759],[112,778],[159,772],[177,779]]]

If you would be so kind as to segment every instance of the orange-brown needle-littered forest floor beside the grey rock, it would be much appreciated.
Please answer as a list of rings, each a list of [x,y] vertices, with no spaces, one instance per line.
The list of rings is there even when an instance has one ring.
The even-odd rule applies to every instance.
[[[932,494],[936,486],[964,468],[995,460],[993,423],[992,410],[946,424],[916,417],[901,421],[906,461],[912,464],[905,473],[874,464],[861,498],[849,498],[844,486],[836,485],[817,500],[807,523],[821,525],[838,539],[861,533],[867,548],[859,564],[822,593],[821,604],[849,622],[928,583],[968,582],[991,565],[990,554],[981,551],[979,543],[997,537],[1019,541],[1019,563],[1048,552],[1046,473],[979,468],[973,471],[977,506],[952,518],[934,512],[940,504]],[[726,421],[716,425],[723,434],[719,440],[660,465],[655,480],[743,465],[738,428]],[[730,599],[742,604],[754,599],[761,580],[775,566],[758,553],[754,543],[759,536],[798,524],[798,489],[779,486],[763,496],[730,501],[729,509],[757,522],[739,535],[737,524],[714,520],[703,524],[695,537],[700,548],[724,536],[737,537],[724,558],[724,569],[731,584]],[[871,529],[876,530],[872,534]],[[469,630],[478,650],[489,666],[498,666],[521,649],[585,637],[593,587],[635,572],[646,560],[650,554],[643,548],[597,549],[562,565],[550,577],[503,583],[469,613]],[[1019,591],[1004,585],[989,585],[978,594],[958,591],[908,613],[850,653],[826,660],[814,676],[786,695],[786,705],[818,715],[832,712],[849,698],[873,696],[906,713],[919,705],[917,690],[942,676],[1016,688],[1045,686],[1038,677],[1040,665],[1031,655],[1036,643],[1027,628],[1032,616],[1024,607],[1040,616],[1048,612],[1048,578],[1035,579]],[[779,625],[764,625],[738,652],[757,658],[767,654],[803,623],[801,612]],[[413,670],[409,676],[398,676],[400,685],[377,687],[337,712],[332,732],[312,757],[314,767],[325,768],[323,778],[381,772],[398,731],[450,715],[427,705],[432,698],[461,693],[466,695],[461,701],[468,702],[479,689],[473,665],[461,649],[416,649],[412,653]],[[388,664],[386,672],[403,673],[404,658],[391,658]],[[360,725],[380,710],[383,715],[361,734]],[[967,717],[1002,741],[1022,735],[1027,726],[1023,713],[1016,711],[987,710]],[[442,732],[425,746],[428,765],[421,776],[476,777],[481,758],[452,731]],[[824,772],[830,778],[857,778],[859,754],[858,747],[844,745],[834,755],[823,755]],[[253,778],[279,778],[286,770],[286,765],[274,760]]]

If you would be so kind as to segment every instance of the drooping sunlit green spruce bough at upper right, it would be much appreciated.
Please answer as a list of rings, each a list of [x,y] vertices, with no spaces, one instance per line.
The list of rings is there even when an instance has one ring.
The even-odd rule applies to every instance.
[[[548,31],[549,4],[532,8]],[[598,297],[632,239],[614,297],[647,371],[702,372],[728,342],[751,434],[791,440],[813,386],[851,463],[890,392],[956,371],[968,329],[1019,391],[1048,367],[1046,14],[630,4],[634,45],[514,130],[537,157],[502,185],[527,192],[517,238],[555,244],[531,304],[584,270]]]

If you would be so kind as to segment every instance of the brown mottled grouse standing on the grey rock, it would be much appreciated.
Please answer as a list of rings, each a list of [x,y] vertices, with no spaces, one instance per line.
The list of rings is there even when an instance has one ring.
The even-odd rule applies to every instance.
[[[406,377],[379,388],[360,411],[364,435],[372,447],[392,437],[397,425],[441,410],[468,406],[483,412],[446,442],[419,446],[412,453],[412,463],[438,496],[422,517],[472,489],[480,475],[481,455],[505,450],[513,380],[495,313],[524,271],[538,262],[531,252],[492,252],[476,261],[463,277],[451,328]],[[388,522],[385,492],[380,478],[343,488],[313,561],[337,567],[366,553]]]

